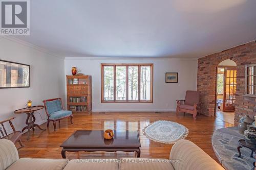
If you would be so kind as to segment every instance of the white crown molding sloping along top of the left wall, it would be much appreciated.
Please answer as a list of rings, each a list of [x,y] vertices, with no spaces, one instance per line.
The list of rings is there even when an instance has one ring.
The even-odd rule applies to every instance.
[[[13,42],[16,42],[16,43],[19,43],[19,44],[22,44],[22,45],[25,45],[25,46],[28,46],[30,48],[33,48],[34,50],[37,50],[39,52],[43,52],[43,53],[46,53],[46,54],[49,54],[49,55],[52,55],[54,57],[59,57],[59,58],[63,58],[61,56],[59,56],[58,54],[55,54],[55,53],[52,53],[48,50],[46,50],[45,48],[42,48],[42,47],[39,47],[37,45],[34,45],[34,44],[31,44],[27,41],[23,41],[23,40],[20,40],[18,38],[15,38],[15,37],[11,37],[11,36],[0,36],[0,38],[4,38],[4,39],[7,39],[7,40],[10,40],[10,41],[13,41]]]

